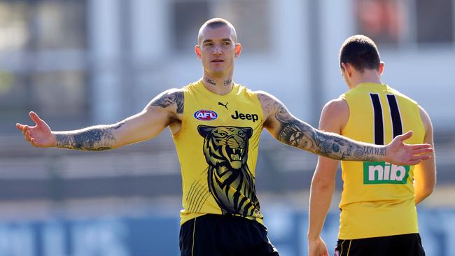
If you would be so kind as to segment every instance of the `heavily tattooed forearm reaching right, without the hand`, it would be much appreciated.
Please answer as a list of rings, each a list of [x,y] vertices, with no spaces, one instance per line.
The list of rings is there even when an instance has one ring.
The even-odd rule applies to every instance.
[[[340,160],[375,161],[386,155],[384,147],[375,148],[337,134],[318,131],[293,118],[283,106],[276,111],[275,118],[281,123],[278,139],[288,145]]]

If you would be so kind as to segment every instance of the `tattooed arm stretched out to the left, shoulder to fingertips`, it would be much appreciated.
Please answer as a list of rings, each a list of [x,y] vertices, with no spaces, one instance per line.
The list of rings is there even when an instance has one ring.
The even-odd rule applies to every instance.
[[[34,112],[30,118],[36,125],[16,124],[25,140],[36,147],[57,147],[73,150],[109,150],[122,145],[145,141],[169,126],[179,129],[183,114],[183,91],[167,90],[153,99],[143,111],[113,125],[97,125],[75,131],[52,131]]]

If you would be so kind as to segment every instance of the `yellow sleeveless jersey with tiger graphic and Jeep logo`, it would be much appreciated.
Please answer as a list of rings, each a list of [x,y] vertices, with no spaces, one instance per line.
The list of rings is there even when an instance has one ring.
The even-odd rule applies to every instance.
[[[255,166],[264,118],[255,93],[234,84],[214,94],[199,80],[183,87],[181,130],[174,135],[181,164],[181,224],[212,213],[262,223]]]

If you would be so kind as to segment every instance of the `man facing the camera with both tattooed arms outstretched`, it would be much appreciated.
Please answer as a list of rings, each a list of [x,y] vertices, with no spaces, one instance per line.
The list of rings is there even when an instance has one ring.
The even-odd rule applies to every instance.
[[[234,83],[241,45],[235,28],[220,18],[200,28],[195,54],[202,78],[151,100],[143,111],[113,125],[52,131],[36,113],[35,126],[20,125],[36,147],[109,150],[171,130],[183,188],[181,255],[279,255],[267,238],[255,192],[255,164],[263,128],[274,138],[334,159],[418,164],[430,145],[407,145],[410,133],[389,145],[352,141],[319,131],[291,115],[267,92]]]

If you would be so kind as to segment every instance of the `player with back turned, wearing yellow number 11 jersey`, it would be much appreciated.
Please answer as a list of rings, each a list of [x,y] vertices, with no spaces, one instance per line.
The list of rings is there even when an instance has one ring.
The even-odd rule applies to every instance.
[[[416,101],[381,82],[384,63],[367,36],[351,36],[339,52],[349,90],[325,104],[320,129],[384,145],[406,131],[407,143],[433,145],[428,114]],[[319,157],[311,182],[309,255],[328,255],[321,229],[335,190],[338,161]],[[435,157],[420,164],[342,161],[344,181],[335,255],[425,255],[416,204],[435,187]]]

